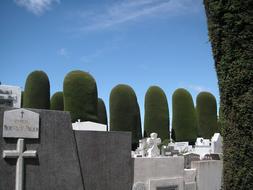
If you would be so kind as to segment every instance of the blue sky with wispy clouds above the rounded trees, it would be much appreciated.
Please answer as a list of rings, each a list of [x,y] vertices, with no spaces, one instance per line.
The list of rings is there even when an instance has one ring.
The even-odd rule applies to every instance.
[[[202,0],[6,0],[0,3],[0,81],[25,86],[48,74],[51,95],[65,75],[88,71],[109,112],[117,84],[136,92],[142,119],[151,85],[219,99]],[[171,114],[171,113],[170,113]]]

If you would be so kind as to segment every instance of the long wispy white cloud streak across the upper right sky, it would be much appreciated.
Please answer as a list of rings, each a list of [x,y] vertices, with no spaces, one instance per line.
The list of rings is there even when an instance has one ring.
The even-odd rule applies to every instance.
[[[172,16],[195,11],[201,0],[122,0],[80,17],[81,30],[99,30],[155,16]],[[86,12],[86,11],[83,11]]]

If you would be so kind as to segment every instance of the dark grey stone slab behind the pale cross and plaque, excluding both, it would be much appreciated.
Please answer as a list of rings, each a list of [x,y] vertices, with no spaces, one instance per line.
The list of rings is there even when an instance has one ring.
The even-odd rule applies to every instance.
[[[17,139],[2,137],[3,112],[0,108],[0,190],[15,189],[17,159],[3,159],[3,150],[15,150]],[[24,160],[25,190],[84,190],[67,112],[36,110],[40,114],[39,139],[25,139],[27,150],[36,150],[37,158]]]

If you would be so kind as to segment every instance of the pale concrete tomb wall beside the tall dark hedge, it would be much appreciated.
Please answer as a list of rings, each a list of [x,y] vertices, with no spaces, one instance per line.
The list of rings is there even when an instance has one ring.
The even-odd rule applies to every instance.
[[[220,190],[223,162],[221,160],[193,161],[191,168],[197,170],[197,190]]]

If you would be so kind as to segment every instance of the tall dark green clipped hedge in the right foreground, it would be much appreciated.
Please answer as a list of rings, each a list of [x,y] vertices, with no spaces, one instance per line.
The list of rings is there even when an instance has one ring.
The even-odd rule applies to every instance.
[[[253,1],[204,5],[220,91],[224,189],[253,189]]]

